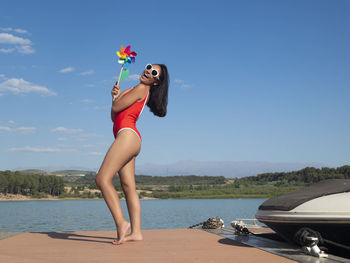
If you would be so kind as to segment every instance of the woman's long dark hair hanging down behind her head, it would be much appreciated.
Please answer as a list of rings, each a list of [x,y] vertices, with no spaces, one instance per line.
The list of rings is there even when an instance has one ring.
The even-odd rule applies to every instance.
[[[153,112],[154,115],[164,117],[166,115],[166,108],[168,105],[168,69],[164,64],[154,65],[159,65],[162,69],[162,72],[160,74],[158,85],[151,86],[147,106],[150,108],[151,112]]]

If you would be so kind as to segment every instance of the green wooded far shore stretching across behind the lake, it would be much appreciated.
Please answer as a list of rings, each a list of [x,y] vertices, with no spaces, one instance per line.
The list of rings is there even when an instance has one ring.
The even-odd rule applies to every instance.
[[[22,174],[19,171],[0,171],[0,193],[38,197],[44,194],[77,196],[80,195],[79,191],[84,191],[85,187],[88,189],[97,189],[95,177],[96,173],[91,172],[86,176],[79,177],[75,181],[68,181],[67,178],[70,179],[72,178],[71,176],[58,177],[54,175]],[[336,178],[350,179],[350,166],[320,169],[306,167],[293,172],[263,173],[257,176],[235,178],[233,184],[225,184],[226,178],[224,176],[135,175],[137,188],[139,190],[152,190],[153,194],[150,193],[149,196],[154,195],[153,197],[158,198],[202,196],[205,193],[217,196],[221,196],[221,194],[229,196],[229,194],[233,193],[235,195],[244,194],[246,196],[269,195],[271,191],[275,192],[279,188],[283,188],[283,191],[294,190],[294,186],[301,187],[305,184]],[[70,193],[65,193],[65,183],[72,186]],[[114,178],[113,185],[117,191],[121,192],[122,188],[120,186],[119,176]],[[264,187],[265,189],[263,189]],[[87,197],[90,197],[89,195],[91,194],[88,191],[85,193]],[[145,192],[143,194],[147,196]]]

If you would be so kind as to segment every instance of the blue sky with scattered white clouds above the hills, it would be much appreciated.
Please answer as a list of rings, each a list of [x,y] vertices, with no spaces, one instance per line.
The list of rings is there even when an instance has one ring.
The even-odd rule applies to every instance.
[[[0,170],[98,168],[122,89],[165,63],[168,115],[148,108],[137,164],[350,160],[349,1],[2,1]]]

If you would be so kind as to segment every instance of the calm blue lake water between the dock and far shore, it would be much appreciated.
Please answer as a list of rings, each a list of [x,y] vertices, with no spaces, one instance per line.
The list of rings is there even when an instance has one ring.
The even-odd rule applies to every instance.
[[[255,218],[265,199],[141,200],[142,229],[187,228],[220,216],[225,226],[237,218]],[[129,219],[126,202],[121,200]],[[0,232],[114,230],[104,200],[0,202]]]

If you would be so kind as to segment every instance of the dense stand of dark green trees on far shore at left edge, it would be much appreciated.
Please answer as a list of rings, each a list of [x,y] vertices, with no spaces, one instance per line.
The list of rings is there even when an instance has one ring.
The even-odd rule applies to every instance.
[[[0,171],[0,192],[3,194],[59,196],[64,193],[63,178],[54,175],[23,175],[20,172]]]

